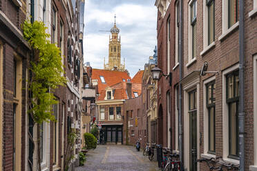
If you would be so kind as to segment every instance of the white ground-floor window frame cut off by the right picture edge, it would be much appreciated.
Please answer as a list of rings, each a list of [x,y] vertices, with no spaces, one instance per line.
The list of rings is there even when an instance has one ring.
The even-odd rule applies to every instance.
[[[257,3],[257,1],[256,1]],[[254,55],[254,165],[249,170],[257,170],[257,54]]]

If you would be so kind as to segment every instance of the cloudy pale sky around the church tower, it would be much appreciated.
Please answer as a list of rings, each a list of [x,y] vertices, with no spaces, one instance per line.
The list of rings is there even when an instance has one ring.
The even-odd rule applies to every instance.
[[[93,68],[104,68],[108,61],[108,39],[116,14],[120,28],[122,61],[131,77],[148,63],[156,45],[157,8],[155,0],[86,0],[84,30],[84,61]]]

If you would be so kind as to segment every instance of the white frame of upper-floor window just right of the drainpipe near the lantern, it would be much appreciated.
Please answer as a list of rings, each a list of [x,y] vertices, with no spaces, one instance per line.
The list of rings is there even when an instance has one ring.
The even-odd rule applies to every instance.
[[[188,25],[189,25],[189,28],[188,28],[188,52],[189,52],[189,54],[188,54],[188,62],[187,62],[187,67],[189,67],[189,66],[191,66],[191,64],[194,62],[194,61],[196,61],[196,57],[197,57],[197,52],[196,52],[196,57],[194,57],[193,58],[193,54],[192,54],[192,52],[193,52],[193,48],[192,48],[192,45],[193,45],[193,43],[192,43],[192,41],[193,41],[193,34],[192,34],[192,32],[193,32],[193,28],[192,28],[192,26],[191,26],[191,5],[192,5],[192,3],[193,2],[196,2],[196,19],[197,19],[197,6],[198,6],[198,3],[197,3],[197,0],[191,0],[191,1],[189,1],[189,22],[188,22]],[[197,22],[197,21],[196,21]],[[196,23],[196,27],[197,27],[197,23]]]

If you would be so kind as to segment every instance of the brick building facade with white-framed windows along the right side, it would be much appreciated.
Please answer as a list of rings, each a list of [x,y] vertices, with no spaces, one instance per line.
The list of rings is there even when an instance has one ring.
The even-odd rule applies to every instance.
[[[222,157],[229,163],[240,163],[240,91],[245,92],[245,170],[256,169],[256,2],[244,3],[245,90],[240,90],[239,1],[155,2],[158,7],[158,67],[164,74],[171,72],[173,77],[170,88],[164,77],[158,85],[158,110],[164,125],[163,139],[159,139],[159,143],[168,144],[170,122],[171,148],[182,156],[185,170],[209,170],[205,163],[194,164],[201,157]],[[200,73],[204,61],[209,64],[207,71],[213,72]],[[177,88],[180,83],[181,109]],[[162,102],[168,93],[170,104]],[[171,120],[166,117],[169,116],[167,105],[171,105]],[[178,143],[179,112],[182,114],[182,143]],[[179,152],[180,145],[182,152]]]

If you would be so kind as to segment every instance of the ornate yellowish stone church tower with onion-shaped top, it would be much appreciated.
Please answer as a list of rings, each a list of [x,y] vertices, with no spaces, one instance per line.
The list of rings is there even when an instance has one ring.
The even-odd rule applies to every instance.
[[[108,63],[105,64],[104,59],[104,70],[125,70],[125,61],[124,64],[121,64],[121,46],[120,46],[120,29],[116,26],[116,16],[114,17],[114,26],[111,28],[111,37],[109,36],[109,57]]]

